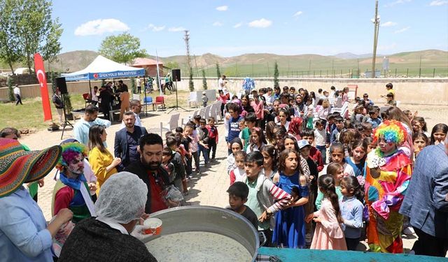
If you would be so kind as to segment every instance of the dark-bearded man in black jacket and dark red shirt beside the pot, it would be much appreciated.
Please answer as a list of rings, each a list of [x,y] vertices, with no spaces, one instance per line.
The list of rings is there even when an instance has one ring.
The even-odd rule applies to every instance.
[[[162,191],[169,186],[168,173],[162,167],[163,140],[155,133],[148,133],[140,138],[140,161],[131,163],[125,171],[134,173],[148,187],[148,200],[145,205],[146,214],[167,209]]]

